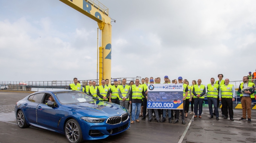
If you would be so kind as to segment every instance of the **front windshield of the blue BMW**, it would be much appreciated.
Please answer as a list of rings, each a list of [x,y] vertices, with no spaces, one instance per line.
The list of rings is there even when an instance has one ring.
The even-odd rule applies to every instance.
[[[83,92],[59,92],[54,94],[56,95],[59,102],[62,104],[73,104],[73,103],[95,101],[93,97]]]

